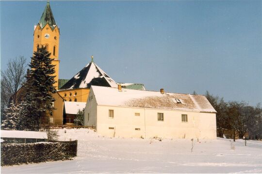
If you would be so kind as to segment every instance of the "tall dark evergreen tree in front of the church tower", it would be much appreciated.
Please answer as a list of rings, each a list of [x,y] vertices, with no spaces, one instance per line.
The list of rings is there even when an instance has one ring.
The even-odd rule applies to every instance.
[[[46,47],[42,46],[33,53],[29,64],[30,78],[25,84],[25,97],[21,103],[24,110],[21,111],[23,119],[20,120],[20,129],[39,131],[41,125],[49,123],[48,116],[52,114],[55,101],[52,94],[56,92],[52,60]]]

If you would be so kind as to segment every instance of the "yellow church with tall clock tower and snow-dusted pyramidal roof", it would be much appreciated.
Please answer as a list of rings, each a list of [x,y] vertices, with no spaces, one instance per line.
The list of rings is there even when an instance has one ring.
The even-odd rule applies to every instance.
[[[50,58],[53,58],[52,64],[55,65],[53,75],[56,81],[54,87],[57,92],[53,94],[55,110],[49,116],[49,124],[73,125],[78,110],[85,107],[91,86],[117,87],[118,84],[121,84],[124,88],[145,90],[143,84],[116,83],[98,67],[93,56],[91,56],[90,62],[71,79],[59,79],[59,40],[60,29],[55,22],[48,1],[38,24],[34,26],[33,51],[37,51],[37,48],[44,45],[51,53]]]

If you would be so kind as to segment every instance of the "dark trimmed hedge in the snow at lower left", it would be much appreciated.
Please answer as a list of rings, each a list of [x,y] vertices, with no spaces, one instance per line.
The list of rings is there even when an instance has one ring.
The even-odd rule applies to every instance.
[[[56,143],[1,143],[1,166],[70,160],[77,156],[77,140]]]

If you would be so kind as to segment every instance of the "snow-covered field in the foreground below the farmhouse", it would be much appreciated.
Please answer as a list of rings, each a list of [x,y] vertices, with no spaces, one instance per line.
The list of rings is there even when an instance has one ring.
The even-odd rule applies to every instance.
[[[229,139],[163,141],[108,138],[89,129],[59,130],[60,140],[78,140],[74,160],[1,167],[2,174],[262,173],[262,142]]]

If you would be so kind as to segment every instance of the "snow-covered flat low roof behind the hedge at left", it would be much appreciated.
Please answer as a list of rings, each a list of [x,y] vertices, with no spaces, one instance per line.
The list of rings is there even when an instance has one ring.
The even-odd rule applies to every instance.
[[[37,138],[48,139],[47,132],[1,130],[1,138]]]

